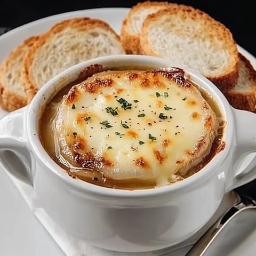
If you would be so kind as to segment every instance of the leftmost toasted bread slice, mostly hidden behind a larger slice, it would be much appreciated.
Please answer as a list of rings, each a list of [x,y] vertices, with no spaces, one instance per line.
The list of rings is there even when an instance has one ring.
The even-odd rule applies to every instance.
[[[0,105],[4,110],[13,111],[27,105],[21,79],[22,61],[37,39],[37,36],[26,39],[9,54],[0,67]]]

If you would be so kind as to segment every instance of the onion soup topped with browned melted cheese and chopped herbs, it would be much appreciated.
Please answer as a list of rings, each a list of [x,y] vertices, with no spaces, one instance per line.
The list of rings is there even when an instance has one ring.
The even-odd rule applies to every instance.
[[[94,74],[55,95],[39,126],[71,177],[118,189],[181,181],[225,146],[218,106],[178,68]]]

